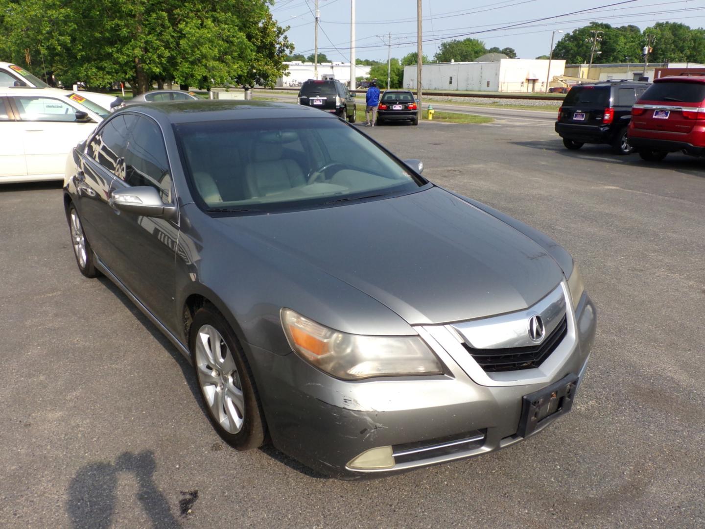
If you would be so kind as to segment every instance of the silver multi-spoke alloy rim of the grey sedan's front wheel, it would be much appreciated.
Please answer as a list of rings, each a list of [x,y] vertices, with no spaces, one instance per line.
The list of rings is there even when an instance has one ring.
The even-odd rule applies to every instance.
[[[214,419],[223,430],[236,434],[245,422],[245,396],[233,353],[212,325],[203,325],[196,337],[198,383]]]

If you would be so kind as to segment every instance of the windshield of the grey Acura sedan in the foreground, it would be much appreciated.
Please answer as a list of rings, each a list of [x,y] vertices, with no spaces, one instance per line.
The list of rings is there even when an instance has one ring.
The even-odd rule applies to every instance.
[[[427,183],[336,119],[214,121],[174,129],[192,191],[209,211],[317,207],[409,193]]]

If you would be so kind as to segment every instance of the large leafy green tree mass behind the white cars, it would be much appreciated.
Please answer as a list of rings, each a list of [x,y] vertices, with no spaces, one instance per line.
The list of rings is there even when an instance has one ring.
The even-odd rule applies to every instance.
[[[157,80],[271,84],[292,51],[269,0],[0,0],[0,51],[30,71],[92,87]],[[39,68],[41,66],[41,68]],[[254,74],[252,68],[255,68]],[[275,72],[275,71],[278,72]]]

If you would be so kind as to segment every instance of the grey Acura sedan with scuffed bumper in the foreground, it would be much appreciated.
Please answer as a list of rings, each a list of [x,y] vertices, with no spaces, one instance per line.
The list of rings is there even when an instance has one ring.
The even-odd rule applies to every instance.
[[[335,116],[128,107],[67,171],[80,272],[192,361],[236,449],[271,441],[359,478],[486,454],[570,411],[596,325],[570,255]]]

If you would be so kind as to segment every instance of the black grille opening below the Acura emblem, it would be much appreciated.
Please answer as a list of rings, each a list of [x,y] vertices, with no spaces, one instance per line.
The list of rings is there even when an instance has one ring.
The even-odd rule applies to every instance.
[[[539,367],[548,355],[556,351],[556,347],[566,334],[568,334],[568,320],[563,316],[563,320],[560,320],[556,329],[553,329],[543,343],[537,346],[504,349],[475,349],[467,343],[463,343],[463,346],[486,372],[517,371]]]

